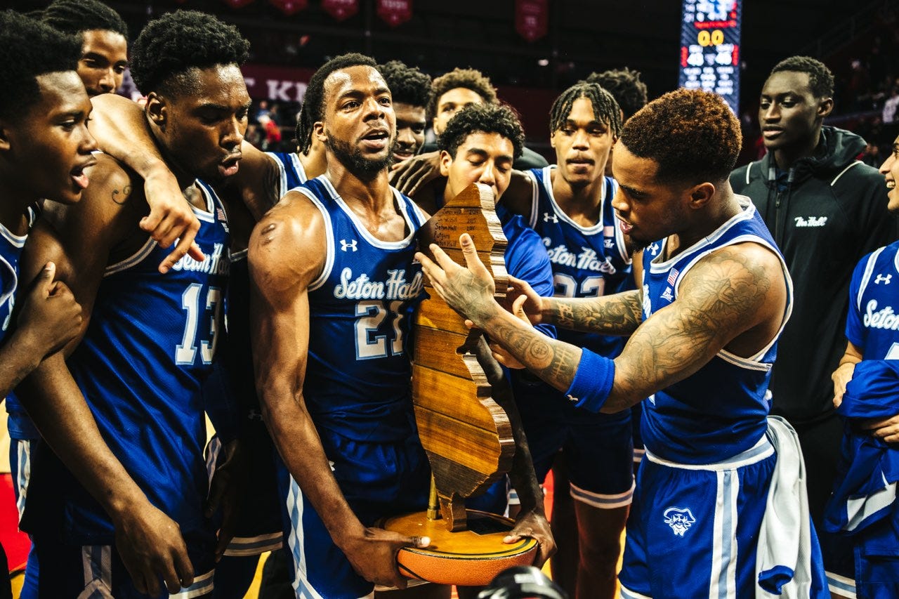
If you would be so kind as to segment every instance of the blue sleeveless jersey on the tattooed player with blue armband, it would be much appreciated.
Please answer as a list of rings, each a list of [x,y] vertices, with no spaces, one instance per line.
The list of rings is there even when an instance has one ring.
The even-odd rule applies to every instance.
[[[783,330],[793,300],[787,265],[752,203],[742,196],[741,202],[748,205],[739,214],[669,260],[663,260],[666,241],[646,248],[644,320],[677,299],[684,275],[699,260],[722,247],[752,242],[774,252],[783,269],[788,287]],[[749,358],[721,350],[695,374],[645,400],[641,432],[646,450],[664,460],[705,464],[750,449],[768,427],[766,394],[778,336]]]

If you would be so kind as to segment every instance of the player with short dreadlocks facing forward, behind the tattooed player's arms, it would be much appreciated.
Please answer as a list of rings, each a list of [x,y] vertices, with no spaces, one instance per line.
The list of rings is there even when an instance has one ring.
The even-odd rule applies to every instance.
[[[603,175],[620,128],[620,109],[608,92],[583,82],[569,87],[550,112],[556,165],[513,178],[503,196],[503,209],[523,215],[543,239],[557,297],[633,288],[629,248],[611,206],[617,185]],[[559,339],[610,358],[624,345],[621,337],[567,330],[559,331]],[[570,569],[563,560],[576,559],[576,594],[611,597],[634,487],[630,413],[585,413],[526,372],[514,373],[513,389],[539,480],[554,460],[563,460],[575,500],[577,536],[556,529],[567,555],[553,558],[554,571]],[[602,469],[596,468],[600,462]]]

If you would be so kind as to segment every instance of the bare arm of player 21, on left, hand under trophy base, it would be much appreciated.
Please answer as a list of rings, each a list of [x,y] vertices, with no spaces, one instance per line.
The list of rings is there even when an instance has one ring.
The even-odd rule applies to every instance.
[[[271,439],[334,543],[361,577],[405,588],[396,552],[426,538],[368,528],[337,485],[303,397],[309,343],[308,285],[325,260],[325,223],[298,192],[289,192],[250,238],[251,334],[256,389]]]

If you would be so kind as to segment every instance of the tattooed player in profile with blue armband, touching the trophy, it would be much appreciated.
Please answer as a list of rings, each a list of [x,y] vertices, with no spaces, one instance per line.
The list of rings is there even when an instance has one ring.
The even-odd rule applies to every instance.
[[[467,268],[436,246],[440,265],[417,255],[435,291],[576,407],[615,413],[653,396],[623,597],[743,597],[760,586],[827,595],[796,435],[766,421],[791,289],[767,228],[728,183],[739,149],[739,122],[715,94],[679,90],[647,104],[624,125],[613,165],[620,228],[646,246],[642,289],[548,299],[519,285],[534,322],[631,335],[614,360],[498,306],[467,235]],[[773,524],[783,510],[797,530]]]

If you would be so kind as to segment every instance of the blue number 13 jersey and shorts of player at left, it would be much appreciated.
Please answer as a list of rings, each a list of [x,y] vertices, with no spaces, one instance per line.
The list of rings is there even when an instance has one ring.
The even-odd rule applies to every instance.
[[[183,256],[169,273],[160,274],[158,265],[169,250],[148,239],[134,255],[108,265],[90,325],[67,364],[112,453],[149,501],[180,526],[200,595],[212,587],[215,548],[215,531],[203,514],[208,479],[200,391],[223,330],[229,236],[215,192],[197,184],[206,209],[193,209],[200,219],[196,243],[205,259]],[[90,549],[85,559],[99,560],[93,568],[96,577],[110,576],[109,556],[103,557],[103,548],[114,541],[109,516],[40,445],[41,451],[31,456],[33,490],[22,517],[22,529],[34,535],[39,562],[46,563],[43,556],[58,550],[53,547],[58,541],[52,540],[61,534],[66,543]],[[41,485],[53,490],[39,493]],[[91,582],[85,568],[79,575],[82,586]],[[114,582],[114,563],[112,568]],[[42,591],[49,584],[46,579],[58,574],[43,577]],[[66,584],[65,577],[59,578],[59,584]],[[67,593],[60,592],[58,596]],[[113,593],[130,595],[127,587],[117,591],[113,586]]]

